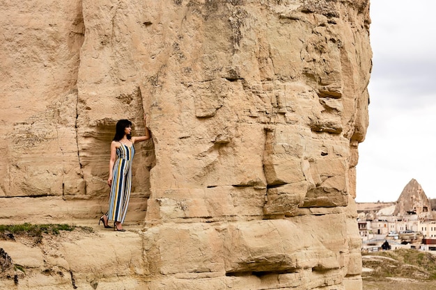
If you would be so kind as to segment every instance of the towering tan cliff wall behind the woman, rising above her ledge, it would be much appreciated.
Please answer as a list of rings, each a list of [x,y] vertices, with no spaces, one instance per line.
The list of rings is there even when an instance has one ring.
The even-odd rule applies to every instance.
[[[64,2],[2,3],[2,223],[100,216],[114,124],[146,112],[125,279],[361,289],[368,1]]]

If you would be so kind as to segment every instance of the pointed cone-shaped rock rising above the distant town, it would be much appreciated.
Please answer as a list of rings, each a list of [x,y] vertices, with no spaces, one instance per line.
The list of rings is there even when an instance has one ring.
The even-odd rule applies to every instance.
[[[404,187],[395,205],[394,216],[408,214],[417,214],[420,218],[433,218],[430,200],[415,179],[411,179]]]

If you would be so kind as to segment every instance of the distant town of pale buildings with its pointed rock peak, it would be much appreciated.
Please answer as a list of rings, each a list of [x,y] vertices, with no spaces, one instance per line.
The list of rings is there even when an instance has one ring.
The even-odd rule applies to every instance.
[[[364,252],[414,248],[436,251],[436,200],[412,179],[396,202],[358,202]]]

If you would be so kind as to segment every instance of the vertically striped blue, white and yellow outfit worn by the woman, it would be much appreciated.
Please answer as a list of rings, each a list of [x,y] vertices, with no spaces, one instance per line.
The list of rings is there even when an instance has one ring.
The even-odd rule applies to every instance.
[[[109,198],[109,220],[124,223],[125,214],[130,200],[130,189],[132,188],[132,161],[134,146],[130,147],[120,143],[116,149],[116,159],[112,173],[111,196]]]

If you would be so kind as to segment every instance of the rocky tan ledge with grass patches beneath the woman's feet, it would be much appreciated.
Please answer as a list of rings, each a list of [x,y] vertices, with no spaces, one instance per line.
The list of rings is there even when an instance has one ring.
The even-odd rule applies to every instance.
[[[59,233],[0,232],[0,289],[141,289],[141,227],[114,232],[95,221],[88,225]]]

